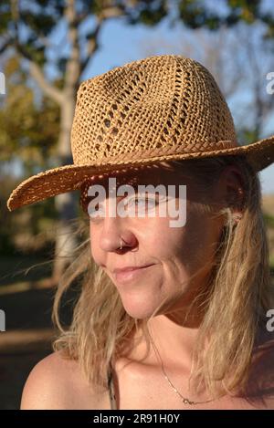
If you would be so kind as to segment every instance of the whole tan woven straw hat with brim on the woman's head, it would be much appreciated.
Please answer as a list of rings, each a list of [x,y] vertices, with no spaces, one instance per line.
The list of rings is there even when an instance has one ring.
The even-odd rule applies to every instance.
[[[274,135],[237,142],[216,81],[180,55],[146,57],[79,85],[71,128],[73,164],[40,172],[11,193],[10,211],[80,189],[125,165],[244,154],[256,172],[274,161]]]

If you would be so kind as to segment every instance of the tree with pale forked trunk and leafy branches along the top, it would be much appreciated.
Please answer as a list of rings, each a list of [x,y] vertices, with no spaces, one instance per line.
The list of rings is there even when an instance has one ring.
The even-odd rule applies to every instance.
[[[53,100],[60,111],[60,130],[58,135],[57,165],[72,162],[70,154],[70,128],[75,109],[76,92],[85,69],[100,48],[99,37],[104,23],[109,19],[124,19],[125,23],[153,26],[170,9],[176,8],[176,19],[191,28],[207,26],[216,30],[221,26],[233,26],[239,20],[253,23],[259,19],[267,24],[266,37],[274,34],[273,18],[261,12],[261,1],[227,0],[218,2],[227,6],[227,15],[210,10],[207,2],[199,0],[2,0],[0,5],[0,53],[9,47],[26,61],[30,76],[37,81],[48,99]],[[90,16],[95,24],[90,28]],[[64,40],[53,44],[52,38],[59,23],[66,25]],[[88,28],[85,29],[84,28]],[[64,54],[63,44],[68,45],[68,54]],[[59,85],[47,77],[46,65],[50,49],[55,49],[55,67],[59,73]],[[71,239],[70,219],[75,217],[73,193],[64,193],[55,198],[59,213],[59,234],[56,252],[69,254],[75,242]],[[67,244],[64,245],[64,237]],[[54,276],[58,278],[64,268],[64,259],[57,259]]]

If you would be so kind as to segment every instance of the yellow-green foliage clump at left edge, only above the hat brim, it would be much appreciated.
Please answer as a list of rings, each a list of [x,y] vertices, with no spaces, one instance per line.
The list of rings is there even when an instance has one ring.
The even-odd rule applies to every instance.
[[[26,73],[18,57],[5,65],[7,94],[0,110],[0,161],[18,158],[27,172],[47,168],[56,151],[59,131],[58,106],[50,99],[35,102],[33,89],[26,85]]]

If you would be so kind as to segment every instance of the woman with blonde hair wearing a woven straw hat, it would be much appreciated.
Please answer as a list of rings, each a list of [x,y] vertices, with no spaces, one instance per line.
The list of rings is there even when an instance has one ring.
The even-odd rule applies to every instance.
[[[73,165],[31,177],[8,201],[79,189],[90,234],[58,285],[60,336],[21,408],[274,409],[258,179],[274,136],[239,145],[208,70],[165,55],[83,82],[71,149]],[[77,278],[63,329],[59,302]]]

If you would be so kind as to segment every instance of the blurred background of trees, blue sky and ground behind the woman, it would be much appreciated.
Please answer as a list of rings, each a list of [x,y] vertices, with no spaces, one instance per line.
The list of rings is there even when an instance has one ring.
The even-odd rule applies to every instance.
[[[82,80],[162,54],[211,71],[241,144],[274,134],[271,0],[1,0],[0,409],[19,408],[29,371],[51,351],[52,299],[81,216],[78,192],[12,213],[8,196],[30,175],[72,163]],[[274,272],[274,165],[259,175]]]

